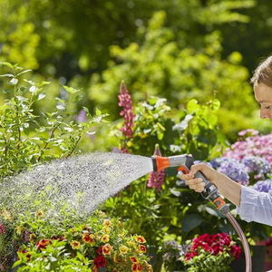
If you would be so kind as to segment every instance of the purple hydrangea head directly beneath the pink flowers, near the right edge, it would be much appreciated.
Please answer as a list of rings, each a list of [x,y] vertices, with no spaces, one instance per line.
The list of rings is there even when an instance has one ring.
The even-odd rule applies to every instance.
[[[248,156],[241,162],[247,167],[249,173],[266,174],[271,170],[268,161],[260,157]]]

